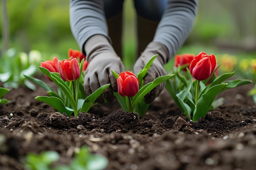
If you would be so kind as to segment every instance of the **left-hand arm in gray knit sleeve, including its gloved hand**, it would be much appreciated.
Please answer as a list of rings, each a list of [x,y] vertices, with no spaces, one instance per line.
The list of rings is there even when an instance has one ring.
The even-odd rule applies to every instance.
[[[112,101],[113,91],[117,92],[117,80],[111,70],[121,73],[124,71],[124,64],[108,37],[103,0],[71,0],[70,25],[74,38],[88,61],[84,78],[86,95],[92,94],[104,84],[111,84],[98,97],[97,102],[103,103],[104,97]]]

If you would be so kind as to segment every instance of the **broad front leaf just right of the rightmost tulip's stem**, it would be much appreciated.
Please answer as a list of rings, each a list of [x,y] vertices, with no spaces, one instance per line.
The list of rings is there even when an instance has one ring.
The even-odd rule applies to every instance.
[[[195,105],[195,110],[193,113],[193,121],[197,121],[200,117],[205,117],[209,108],[211,107],[211,104],[213,103],[213,100],[216,98],[216,96],[223,91],[225,87],[227,87],[228,84],[217,84],[211,88],[208,89],[208,91],[198,99],[197,104]]]

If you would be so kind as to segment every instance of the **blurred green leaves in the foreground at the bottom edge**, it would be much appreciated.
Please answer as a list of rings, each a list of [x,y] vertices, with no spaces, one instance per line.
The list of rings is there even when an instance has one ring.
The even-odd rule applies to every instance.
[[[53,166],[60,159],[56,151],[45,151],[39,155],[29,153],[25,159],[25,170],[103,170],[108,159],[103,155],[91,154],[87,146],[79,148],[68,165]]]

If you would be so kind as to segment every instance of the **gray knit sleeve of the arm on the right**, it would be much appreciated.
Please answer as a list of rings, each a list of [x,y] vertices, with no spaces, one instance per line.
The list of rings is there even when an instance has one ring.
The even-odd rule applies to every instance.
[[[195,22],[198,0],[169,0],[157,26],[154,42],[164,44],[169,52],[168,61],[176,54],[189,36]]]

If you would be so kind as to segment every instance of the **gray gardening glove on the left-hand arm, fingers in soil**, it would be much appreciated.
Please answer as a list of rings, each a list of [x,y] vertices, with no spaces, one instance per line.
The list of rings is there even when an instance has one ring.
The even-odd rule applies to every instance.
[[[86,95],[92,94],[104,84],[110,87],[103,92],[107,101],[114,99],[114,92],[117,92],[117,79],[111,70],[116,73],[124,71],[124,64],[117,56],[108,39],[103,35],[94,35],[85,43],[85,53],[88,60],[88,67],[85,71],[84,89]],[[103,103],[103,95],[99,96],[97,102]]]

